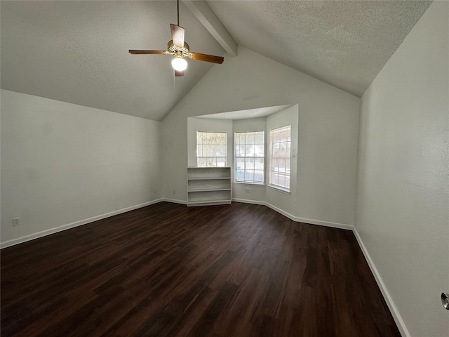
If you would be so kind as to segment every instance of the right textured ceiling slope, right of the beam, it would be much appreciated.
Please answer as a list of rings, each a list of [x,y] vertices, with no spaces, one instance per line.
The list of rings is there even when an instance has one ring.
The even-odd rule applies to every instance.
[[[361,96],[431,1],[207,1],[237,44]]]

